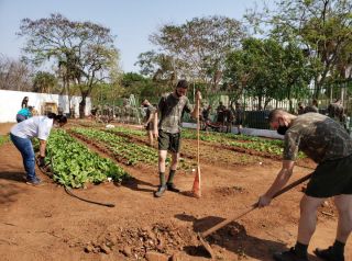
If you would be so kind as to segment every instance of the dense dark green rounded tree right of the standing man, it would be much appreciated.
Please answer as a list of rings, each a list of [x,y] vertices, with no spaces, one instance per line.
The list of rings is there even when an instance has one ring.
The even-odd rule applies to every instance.
[[[224,82],[234,99],[244,92],[257,98],[258,110],[273,99],[299,97],[308,90],[311,78],[309,60],[299,46],[283,46],[274,38],[244,39],[242,49],[232,52],[226,64]]]

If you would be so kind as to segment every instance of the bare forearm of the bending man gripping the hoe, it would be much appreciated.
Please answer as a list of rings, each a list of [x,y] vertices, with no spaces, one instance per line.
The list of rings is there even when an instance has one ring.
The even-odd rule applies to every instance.
[[[283,167],[278,172],[275,181],[271,185],[271,188],[262,195],[257,202],[258,207],[264,207],[271,204],[271,201],[276,192],[284,188],[284,185],[288,182],[289,178],[293,174],[295,161],[293,160],[284,160]]]

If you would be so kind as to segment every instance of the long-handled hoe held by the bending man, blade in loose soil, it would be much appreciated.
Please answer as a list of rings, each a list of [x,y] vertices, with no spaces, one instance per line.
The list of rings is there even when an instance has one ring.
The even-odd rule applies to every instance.
[[[307,174],[302,178],[300,178],[299,180],[288,184],[287,186],[285,186],[284,189],[279,190],[278,192],[275,193],[275,195],[273,196],[273,198],[279,196],[280,194],[289,191],[290,189],[299,185],[300,183],[307,181],[310,179],[310,177],[312,175],[312,173],[310,174]],[[249,209],[246,209],[245,212],[243,212],[242,214],[240,215],[237,215],[234,217],[231,217],[231,218],[227,218],[224,219],[223,222],[219,223],[218,225],[209,228],[208,230],[204,231],[204,232],[198,232],[198,240],[200,240],[201,245],[205,247],[205,249],[207,250],[207,252],[210,254],[210,257],[212,258],[213,257],[213,253],[212,253],[212,249],[210,247],[210,245],[206,241],[206,237],[209,236],[210,234],[219,230],[220,228],[223,228],[224,226],[229,225],[231,222],[234,222],[243,216],[245,216],[246,214],[249,214],[250,212],[254,211],[257,208],[257,203],[255,203],[254,205],[252,205]]]

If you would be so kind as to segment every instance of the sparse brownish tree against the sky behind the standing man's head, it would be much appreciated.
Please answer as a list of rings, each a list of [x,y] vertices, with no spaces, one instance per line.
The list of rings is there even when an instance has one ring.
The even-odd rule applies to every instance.
[[[172,57],[173,71],[218,90],[227,54],[243,37],[239,21],[224,16],[194,18],[182,25],[166,24],[151,35],[162,54]]]

